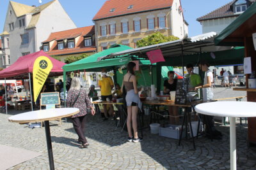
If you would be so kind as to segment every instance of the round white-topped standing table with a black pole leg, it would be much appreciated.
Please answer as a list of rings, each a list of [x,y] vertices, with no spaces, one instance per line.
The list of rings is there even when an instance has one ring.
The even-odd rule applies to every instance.
[[[79,113],[78,108],[56,108],[56,109],[48,109],[48,110],[36,110],[29,111],[26,113],[20,113],[19,115],[15,115],[9,118],[10,122],[16,122],[20,124],[25,124],[29,122],[45,122],[45,135],[47,141],[47,149],[48,149],[48,157],[50,169],[54,169],[54,160],[52,155],[52,141],[51,141],[51,132],[49,121],[56,120],[56,118],[65,118],[70,117]]]

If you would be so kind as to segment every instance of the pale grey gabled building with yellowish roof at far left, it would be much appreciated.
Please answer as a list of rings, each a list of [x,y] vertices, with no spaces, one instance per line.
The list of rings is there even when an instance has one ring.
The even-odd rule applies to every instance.
[[[38,52],[51,32],[76,28],[58,0],[40,6],[10,1],[3,33],[3,67],[20,56]]]

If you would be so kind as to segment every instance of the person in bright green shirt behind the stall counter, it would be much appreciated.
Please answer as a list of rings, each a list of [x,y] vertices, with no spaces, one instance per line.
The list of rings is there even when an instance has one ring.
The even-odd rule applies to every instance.
[[[186,66],[188,74],[186,74],[186,78],[189,78],[189,90],[193,90],[195,87],[202,85],[201,77],[194,73],[193,64],[188,64]]]

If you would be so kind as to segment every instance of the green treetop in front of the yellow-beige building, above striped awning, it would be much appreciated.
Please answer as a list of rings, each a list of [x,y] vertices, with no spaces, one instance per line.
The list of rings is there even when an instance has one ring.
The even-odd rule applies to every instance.
[[[177,40],[177,39],[179,39],[179,38],[177,38],[175,36],[164,36],[160,32],[156,32],[154,34],[146,36],[143,39],[138,40],[136,45],[138,47],[148,46],[148,45],[156,45],[156,44],[159,44],[159,43],[165,43],[165,42],[174,41],[174,40]]]

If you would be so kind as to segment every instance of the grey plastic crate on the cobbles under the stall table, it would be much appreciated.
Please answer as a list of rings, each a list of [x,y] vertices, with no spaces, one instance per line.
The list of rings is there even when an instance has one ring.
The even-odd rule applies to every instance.
[[[170,128],[172,127],[172,129]],[[164,136],[167,138],[173,138],[173,139],[180,139],[180,130],[176,130],[175,128],[178,127],[178,125],[166,125],[166,127],[159,127],[159,136]],[[183,129],[185,130],[185,129]],[[182,132],[182,138],[186,136],[186,132]]]

